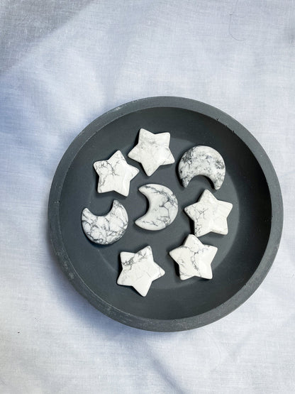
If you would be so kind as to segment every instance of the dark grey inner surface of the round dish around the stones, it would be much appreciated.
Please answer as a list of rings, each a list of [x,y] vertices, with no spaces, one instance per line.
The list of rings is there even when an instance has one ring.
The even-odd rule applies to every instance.
[[[140,163],[127,158],[138,141],[140,128],[171,134],[169,147],[175,163],[160,167],[150,177],[145,175]],[[182,187],[177,165],[184,152],[196,145],[211,146],[223,156],[226,178],[220,190],[214,190],[211,182],[202,176],[194,177],[187,188]],[[98,176],[94,161],[106,160],[118,149],[130,165],[140,169],[130,182],[128,197],[116,192],[96,192]],[[179,202],[176,219],[161,231],[147,231],[134,224],[147,210],[147,199],[138,192],[138,187],[147,183],[169,187]],[[210,233],[200,237],[203,243],[218,248],[212,263],[212,280],[180,280],[177,263],[168,252],[180,246],[188,234],[193,234],[193,222],[183,209],[196,202],[205,189],[233,204],[228,216],[228,235]],[[126,208],[128,228],[118,242],[99,246],[84,235],[81,212],[87,207],[96,215],[104,215],[111,209],[113,199]],[[271,217],[265,175],[245,143],[216,119],[175,108],[143,109],[121,116],[100,130],[94,129],[67,171],[60,199],[62,239],[77,274],[97,297],[112,307],[149,319],[196,316],[233,297],[260,264],[269,239]],[[121,272],[119,253],[135,253],[147,245],[152,247],[154,260],[165,270],[165,275],[152,283],[146,297],[141,297],[133,288],[116,284]]]

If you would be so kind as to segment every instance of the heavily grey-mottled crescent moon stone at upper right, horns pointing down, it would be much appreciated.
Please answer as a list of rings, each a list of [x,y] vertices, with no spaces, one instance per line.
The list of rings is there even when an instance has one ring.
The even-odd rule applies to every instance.
[[[184,187],[196,175],[204,175],[218,190],[226,176],[226,165],[221,154],[210,146],[194,146],[180,159],[178,173]]]

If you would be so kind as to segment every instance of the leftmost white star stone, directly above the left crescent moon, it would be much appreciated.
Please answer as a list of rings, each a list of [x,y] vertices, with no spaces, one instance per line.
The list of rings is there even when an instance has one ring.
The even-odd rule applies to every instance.
[[[128,196],[130,180],[138,175],[138,168],[126,162],[121,151],[116,151],[108,160],[96,161],[94,170],[99,175],[97,192],[105,193],[115,191]]]

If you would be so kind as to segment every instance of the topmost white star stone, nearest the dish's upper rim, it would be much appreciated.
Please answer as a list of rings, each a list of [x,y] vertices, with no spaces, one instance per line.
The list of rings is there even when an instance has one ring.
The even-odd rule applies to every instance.
[[[160,165],[174,163],[169,142],[170,133],[154,134],[140,128],[138,144],[128,153],[128,157],[141,163],[145,173],[150,176]]]

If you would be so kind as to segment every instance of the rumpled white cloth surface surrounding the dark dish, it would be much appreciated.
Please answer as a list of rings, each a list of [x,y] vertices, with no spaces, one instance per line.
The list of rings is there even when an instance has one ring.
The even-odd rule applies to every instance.
[[[294,7],[1,0],[1,393],[294,392]],[[48,193],[69,143],[104,111],[154,95],[197,99],[240,121],[284,197],[264,283],[191,332],[141,332],[105,317],[48,243]]]

